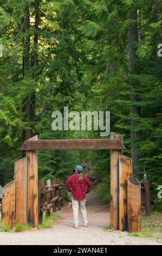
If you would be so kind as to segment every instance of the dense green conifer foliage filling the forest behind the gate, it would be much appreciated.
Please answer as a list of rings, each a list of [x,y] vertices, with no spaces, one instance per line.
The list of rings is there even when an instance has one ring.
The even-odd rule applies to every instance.
[[[110,111],[111,131],[124,136],[125,154],[131,156],[131,143],[138,146],[138,179],[142,181],[146,174],[157,192],[162,184],[162,58],[157,57],[157,45],[162,42],[161,2],[44,0],[40,1],[38,29],[35,2],[0,1],[0,184],[13,179],[14,162],[24,156],[20,147],[27,131],[40,139],[100,138],[96,131],[53,131],[51,114],[68,106],[69,111],[80,113]],[[30,24],[22,29],[27,3]],[[137,20],[127,19],[130,10],[137,10]],[[139,38],[132,44],[139,72],[131,74],[128,30],[135,24]],[[24,75],[28,36],[29,65]],[[133,92],[132,84],[136,85]],[[138,100],[132,100],[133,96]],[[28,117],[30,102],[34,114]],[[140,114],[131,113],[132,107],[140,108]],[[138,125],[132,127],[132,119]],[[138,135],[134,140],[131,131]],[[73,167],[86,159],[95,193],[108,202],[107,151],[40,151],[39,179],[65,181]],[[159,209],[161,200],[155,203]]]

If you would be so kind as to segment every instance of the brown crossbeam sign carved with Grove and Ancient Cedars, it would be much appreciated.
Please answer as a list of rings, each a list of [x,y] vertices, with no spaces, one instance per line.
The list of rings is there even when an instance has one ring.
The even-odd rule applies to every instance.
[[[126,149],[120,139],[49,139],[25,141],[21,150]]]

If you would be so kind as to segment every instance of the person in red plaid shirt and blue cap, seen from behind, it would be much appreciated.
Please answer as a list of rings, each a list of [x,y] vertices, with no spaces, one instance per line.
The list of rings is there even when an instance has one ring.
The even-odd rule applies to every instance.
[[[76,166],[76,174],[66,181],[67,190],[72,193],[74,228],[78,228],[78,211],[80,207],[84,227],[88,227],[86,194],[92,189],[92,182],[83,174],[82,166]]]

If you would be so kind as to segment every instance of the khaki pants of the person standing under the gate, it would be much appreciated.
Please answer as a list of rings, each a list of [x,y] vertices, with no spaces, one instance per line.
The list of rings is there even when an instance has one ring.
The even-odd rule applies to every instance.
[[[86,199],[84,199],[84,200],[75,200],[72,197],[72,207],[73,207],[75,227],[77,227],[79,225],[79,218],[78,218],[79,206],[80,206],[83,225],[87,225],[87,223],[88,223],[87,211],[86,211]]]

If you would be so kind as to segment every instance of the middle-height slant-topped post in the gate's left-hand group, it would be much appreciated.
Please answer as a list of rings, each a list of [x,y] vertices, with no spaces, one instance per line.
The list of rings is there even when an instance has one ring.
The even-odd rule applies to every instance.
[[[15,223],[27,225],[27,157],[15,162]]]

